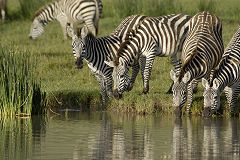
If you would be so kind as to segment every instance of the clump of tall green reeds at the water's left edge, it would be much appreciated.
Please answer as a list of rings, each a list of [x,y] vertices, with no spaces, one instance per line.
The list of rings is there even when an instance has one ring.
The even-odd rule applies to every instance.
[[[45,112],[45,92],[36,74],[36,60],[28,51],[0,46],[0,115]]]

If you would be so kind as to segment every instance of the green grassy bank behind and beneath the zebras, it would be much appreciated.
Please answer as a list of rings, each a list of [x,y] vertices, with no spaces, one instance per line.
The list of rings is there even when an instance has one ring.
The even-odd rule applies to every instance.
[[[240,21],[238,0],[134,0],[130,2],[133,3],[132,5],[126,5],[128,2],[130,1],[103,0],[104,15],[100,20],[99,36],[111,33],[121,19],[130,14],[157,16],[182,12],[193,15],[199,10],[208,9],[223,20],[223,38],[226,45],[237,30]],[[17,3],[11,3],[10,16],[20,13],[19,6]],[[82,70],[75,68],[71,41],[63,40],[59,23],[50,23],[45,27],[45,33],[35,41],[28,39],[30,25],[30,18],[14,18],[0,24],[0,44],[4,47],[14,44],[34,55],[37,59],[36,67],[38,76],[41,77],[42,89],[47,93],[48,106],[80,107],[82,110],[101,109],[98,105],[100,101],[98,83],[86,63]],[[133,90],[125,93],[122,100],[112,100],[107,110],[142,114],[160,111],[171,113],[172,96],[165,94],[171,84],[169,62],[169,58],[156,59],[148,95],[140,95],[142,80],[139,75]],[[194,96],[193,106],[194,113],[200,113],[203,106],[201,84],[198,93]]]

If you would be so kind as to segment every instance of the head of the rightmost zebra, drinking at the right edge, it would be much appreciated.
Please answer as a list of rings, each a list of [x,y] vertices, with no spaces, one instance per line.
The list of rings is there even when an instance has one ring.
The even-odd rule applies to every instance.
[[[212,85],[209,84],[208,80],[202,79],[202,85],[204,87],[204,111],[203,116],[211,116],[213,112],[216,112],[220,107],[220,92],[219,92],[219,80],[214,79]]]

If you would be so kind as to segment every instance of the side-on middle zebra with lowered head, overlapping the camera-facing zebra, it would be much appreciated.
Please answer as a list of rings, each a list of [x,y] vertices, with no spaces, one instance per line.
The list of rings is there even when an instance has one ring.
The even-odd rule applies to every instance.
[[[113,67],[114,95],[121,96],[129,86],[128,70],[140,59],[142,64],[143,93],[149,91],[149,78],[156,56],[171,57],[174,69],[180,70],[180,52],[188,32],[190,16],[172,14],[144,19],[132,36],[121,44],[114,61],[105,62]]]

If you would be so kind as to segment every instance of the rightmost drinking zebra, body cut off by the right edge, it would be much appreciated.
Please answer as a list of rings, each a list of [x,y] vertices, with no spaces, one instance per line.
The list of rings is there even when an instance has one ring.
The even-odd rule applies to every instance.
[[[211,80],[202,79],[204,108],[217,112],[220,108],[220,94],[224,90],[231,115],[237,113],[237,98],[240,93],[240,27],[229,42],[220,64]]]

